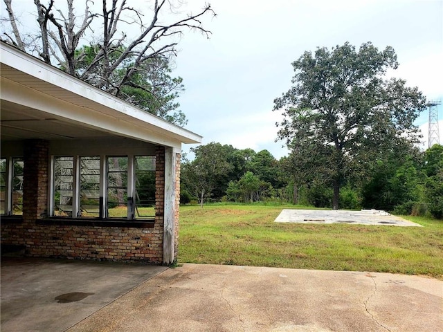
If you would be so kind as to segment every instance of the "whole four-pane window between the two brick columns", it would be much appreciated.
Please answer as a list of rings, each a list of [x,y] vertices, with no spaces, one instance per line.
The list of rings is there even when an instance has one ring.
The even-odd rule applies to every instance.
[[[155,157],[53,157],[51,216],[152,219]]]

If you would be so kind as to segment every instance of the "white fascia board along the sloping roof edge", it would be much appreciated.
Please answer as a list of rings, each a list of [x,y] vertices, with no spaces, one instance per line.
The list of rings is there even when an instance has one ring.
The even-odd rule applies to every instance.
[[[42,80],[43,82],[57,86],[65,91],[69,91],[78,96],[78,98],[84,98],[105,106],[108,111],[112,111],[113,117],[118,120],[125,120],[126,122],[134,124],[145,122],[145,124],[150,124],[151,130],[159,131],[159,133],[162,133],[163,135],[168,135],[169,133],[170,136],[181,140],[183,143],[200,143],[202,140],[202,137],[197,133],[183,129],[182,127],[159,118],[158,116],[154,116],[151,113],[138,109],[137,107],[134,107],[134,105],[120,100],[105,91],[97,89],[96,87],[61,71],[58,68],[50,66],[42,60],[28,55],[4,42],[0,42],[0,51],[0,60],[3,64],[17,69],[17,71],[33,76],[38,80]],[[119,122],[116,121],[116,126],[118,126],[118,123]]]

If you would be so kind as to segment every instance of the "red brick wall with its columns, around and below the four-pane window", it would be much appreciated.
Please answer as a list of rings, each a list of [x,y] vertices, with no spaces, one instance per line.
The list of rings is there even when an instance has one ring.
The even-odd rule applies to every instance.
[[[24,156],[23,222],[1,223],[2,244],[24,245],[26,255],[35,257],[162,263],[164,147],[156,149],[156,216],[153,228],[37,223],[37,219],[46,216],[48,158],[48,142],[27,142]]]

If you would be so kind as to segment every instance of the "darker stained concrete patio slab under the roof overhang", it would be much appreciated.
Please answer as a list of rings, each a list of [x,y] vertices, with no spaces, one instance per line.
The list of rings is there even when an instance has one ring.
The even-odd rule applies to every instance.
[[[65,331],[166,269],[2,257],[1,331]]]

